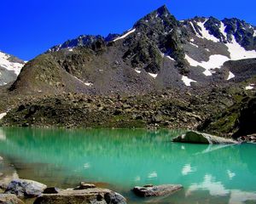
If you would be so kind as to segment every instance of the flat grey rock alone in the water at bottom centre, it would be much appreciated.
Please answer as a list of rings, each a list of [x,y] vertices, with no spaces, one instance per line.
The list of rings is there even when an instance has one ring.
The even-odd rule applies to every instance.
[[[149,197],[170,195],[181,189],[183,189],[183,186],[180,184],[144,185],[143,187],[134,187],[133,192],[141,197]]]

